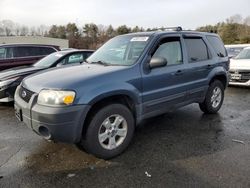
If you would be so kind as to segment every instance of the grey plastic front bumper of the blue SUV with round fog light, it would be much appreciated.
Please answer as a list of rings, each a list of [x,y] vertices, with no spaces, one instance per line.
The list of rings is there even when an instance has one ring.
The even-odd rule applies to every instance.
[[[21,113],[21,120],[35,133],[47,140],[77,143],[82,136],[89,105],[48,107],[37,104],[37,94],[29,102],[19,96],[20,86],[15,93],[15,110]],[[19,117],[20,118],[20,117]]]

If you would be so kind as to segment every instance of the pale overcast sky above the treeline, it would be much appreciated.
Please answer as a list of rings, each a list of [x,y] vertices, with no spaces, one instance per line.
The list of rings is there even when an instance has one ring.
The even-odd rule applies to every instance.
[[[250,0],[0,0],[0,20],[28,26],[95,24],[161,27],[216,24],[250,15]]]

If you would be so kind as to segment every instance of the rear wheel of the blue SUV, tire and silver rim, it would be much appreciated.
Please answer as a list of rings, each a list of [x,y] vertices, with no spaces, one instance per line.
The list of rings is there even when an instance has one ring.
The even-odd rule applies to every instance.
[[[219,80],[213,81],[207,91],[205,100],[199,103],[201,111],[206,114],[217,113],[224,100],[224,86]]]

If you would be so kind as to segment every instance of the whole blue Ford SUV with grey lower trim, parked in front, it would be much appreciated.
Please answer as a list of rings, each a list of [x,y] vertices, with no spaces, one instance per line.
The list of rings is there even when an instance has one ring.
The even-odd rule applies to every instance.
[[[15,93],[15,113],[38,135],[109,159],[141,120],[198,103],[216,113],[229,58],[216,34],[155,31],[117,36],[86,63],[32,75]]]

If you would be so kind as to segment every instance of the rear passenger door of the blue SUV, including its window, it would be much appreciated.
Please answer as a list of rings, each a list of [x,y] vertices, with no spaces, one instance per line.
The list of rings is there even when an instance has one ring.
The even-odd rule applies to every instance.
[[[208,87],[208,74],[215,66],[205,38],[199,35],[184,35],[185,52],[188,59],[186,101],[199,102]]]

